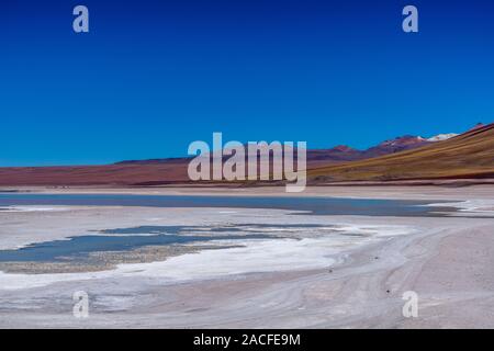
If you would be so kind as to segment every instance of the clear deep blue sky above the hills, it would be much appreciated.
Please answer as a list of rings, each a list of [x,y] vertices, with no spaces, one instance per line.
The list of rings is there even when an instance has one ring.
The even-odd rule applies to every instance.
[[[76,4],[90,33],[72,31]],[[213,132],[367,148],[494,120],[492,1],[0,7],[0,166],[183,156]]]

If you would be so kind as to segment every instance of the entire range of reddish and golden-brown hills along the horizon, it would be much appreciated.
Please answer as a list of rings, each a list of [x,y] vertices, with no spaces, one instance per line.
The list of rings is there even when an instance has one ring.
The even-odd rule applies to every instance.
[[[0,168],[0,185],[147,186],[191,183],[191,158],[127,160],[104,166]],[[405,135],[366,150],[339,145],[307,150],[313,183],[409,179],[494,178],[494,124],[461,135]]]

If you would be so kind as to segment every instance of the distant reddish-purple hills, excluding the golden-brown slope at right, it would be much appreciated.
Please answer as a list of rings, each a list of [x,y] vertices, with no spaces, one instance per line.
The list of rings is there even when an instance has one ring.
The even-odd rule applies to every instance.
[[[396,138],[396,140],[402,138]],[[316,168],[361,160],[396,151],[394,145],[357,150],[345,146],[307,150],[307,167]],[[407,145],[406,147],[411,147]],[[131,160],[104,166],[5,167],[0,168],[0,186],[159,185],[188,183],[191,158]]]

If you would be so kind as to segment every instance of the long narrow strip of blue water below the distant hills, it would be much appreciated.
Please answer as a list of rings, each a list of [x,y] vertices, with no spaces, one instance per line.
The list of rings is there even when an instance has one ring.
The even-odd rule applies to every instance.
[[[314,215],[444,216],[453,207],[420,206],[426,201],[339,197],[192,196],[126,194],[26,194],[0,193],[0,207],[12,205],[83,205],[149,207],[234,207],[306,211]]]

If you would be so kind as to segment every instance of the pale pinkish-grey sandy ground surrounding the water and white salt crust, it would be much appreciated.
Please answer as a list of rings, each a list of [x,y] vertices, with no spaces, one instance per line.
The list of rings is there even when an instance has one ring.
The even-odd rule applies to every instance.
[[[87,189],[58,191],[92,192]],[[197,190],[154,189],[138,192],[193,193]],[[201,193],[284,195],[278,189],[268,188],[254,191],[202,190]],[[468,201],[462,205],[464,208],[490,214],[494,188],[330,186],[308,189],[303,195]],[[190,218],[190,213],[179,208],[167,208],[172,213],[161,218],[154,212],[156,208],[127,208],[128,213],[121,216],[119,213],[122,210],[81,207],[58,213],[19,214],[11,217],[9,224],[2,222],[0,244],[3,248],[10,248],[33,240],[81,235],[85,230],[101,229],[103,223],[109,227],[113,219],[122,219],[120,226],[125,227],[145,220],[162,224],[170,223],[170,217],[177,223]],[[93,211],[98,211],[99,216]],[[31,216],[29,228],[32,230],[25,230],[25,217],[22,216],[26,215]],[[166,263],[168,265],[131,265],[119,274],[109,272],[101,276],[59,280],[48,284],[42,282],[37,286],[25,282],[26,286],[22,288],[0,286],[0,327],[494,328],[494,219],[314,217],[311,216],[310,220],[352,228],[374,226],[384,228],[384,231],[390,227],[413,230],[384,236],[379,240],[366,240],[361,245],[346,242],[339,250],[329,250],[327,257],[317,250],[310,251],[314,257],[304,256],[307,248],[301,247],[288,258],[287,254],[280,256],[280,262],[273,261],[270,264],[274,265],[261,271],[255,271],[252,267],[242,271],[239,268],[246,264],[235,261],[235,256],[231,257],[232,261],[222,257],[222,264],[218,264],[212,261],[214,257],[199,254],[192,262],[201,262],[202,258],[211,263],[211,270],[215,269],[216,273],[233,271],[234,274],[207,276],[201,272],[202,278],[198,278],[193,275],[193,265],[190,268],[186,264],[187,260],[182,260],[178,261],[180,264],[175,271],[189,267],[183,272],[188,272],[191,279],[170,281],[156,273],[164,268],[173,271],[173,260],[170,260],[171,263]],[[242,210],[238,213],[238,210],[218,208],[198,210],[192,218],[202,224],[232,218],[239,222],[258,218],[266,223],[273,223],[277,218],[283,223],[301,220],[301,217],[291,218],[278,211],[259,213]],[[44,230],[50,226],[59,228],[59,220],[65,220],[66,233]],[[18,230],[7,233],[5,225]],[[313,246],[310,248],[314,249]],[[86,319],[75,318],[71,314],[71,294],[79,290],[87,291],[90,296],[90,316]],[[416,318],[406,318],[402,314],[405,303],[402,295],[407,291],[418,296]]]

